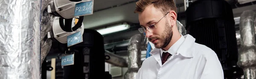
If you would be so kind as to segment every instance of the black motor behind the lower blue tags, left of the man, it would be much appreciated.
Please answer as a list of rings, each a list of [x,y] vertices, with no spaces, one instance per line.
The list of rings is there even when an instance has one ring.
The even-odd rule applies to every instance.
[[[74,53],[74,65],[64,67],[64,79],[100,79],[105,74],[105,49],[101,34],[84,29],[83,42],[70,46]],[[108,78],[106,78],[108,79]]]

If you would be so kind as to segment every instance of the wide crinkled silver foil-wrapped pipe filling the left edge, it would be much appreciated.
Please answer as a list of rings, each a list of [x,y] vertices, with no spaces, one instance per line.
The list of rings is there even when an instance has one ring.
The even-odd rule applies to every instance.
[[[0,2],[0,79],[40,79],[41,0]]]

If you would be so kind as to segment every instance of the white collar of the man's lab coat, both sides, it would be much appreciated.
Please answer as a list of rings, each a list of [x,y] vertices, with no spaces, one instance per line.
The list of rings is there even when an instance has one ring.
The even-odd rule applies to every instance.
[[[182,42],[180,47],[177,50],[177,54],[181,54],[184,57],[193,57],[194,56],[194,50],[193,50],[193,45],[195,43],[195,38],[192,37],[191,35],[187,34],[184,36],[185,40]],[[160,55],[160,48],[154,48],[150,54],[152,55]]]

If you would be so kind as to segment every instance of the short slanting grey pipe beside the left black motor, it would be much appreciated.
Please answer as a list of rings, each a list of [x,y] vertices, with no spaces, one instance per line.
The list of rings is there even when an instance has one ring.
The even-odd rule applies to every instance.
[[[107,50],[105,50],[105,56],[106,56],[105,62],[108,62],[111,65],[115,65],[118,67],[128,67],[128,63],[121,56],[115,55]]]

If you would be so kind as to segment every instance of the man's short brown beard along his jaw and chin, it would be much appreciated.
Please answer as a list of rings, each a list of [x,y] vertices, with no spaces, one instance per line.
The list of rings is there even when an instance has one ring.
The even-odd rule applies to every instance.
[[[169,23],[166,22],[166,26],[164,29],[165,30],[161,34],[161,37],[154,37],[160,41],[160,43],[154,44],[155,48],[165,48],[172,40],[172,27],[169,25]],[[151,39],[151,38],[149,38],[149,39]]]

